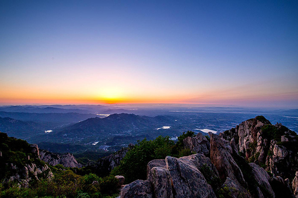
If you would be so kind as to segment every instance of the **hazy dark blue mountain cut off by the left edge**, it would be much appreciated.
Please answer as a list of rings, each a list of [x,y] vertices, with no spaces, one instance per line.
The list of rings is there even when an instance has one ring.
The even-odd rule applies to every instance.
[[[26,139],[37,134],[43,134],[45,130],[46,126],[40,123],[0,117],[0,131],[15,138]]]

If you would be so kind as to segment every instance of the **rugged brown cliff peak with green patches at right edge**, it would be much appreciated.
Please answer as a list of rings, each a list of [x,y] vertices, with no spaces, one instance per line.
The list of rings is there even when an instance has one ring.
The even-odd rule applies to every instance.
[[[239,152],[249,162],[265,165],[266,171],[275,175],[294,178],[298,171],[295,148],[298,135],[280,123],[272,125],[263,116],[257,116],[221,133],[220,137],[230,141],[234,153]]]

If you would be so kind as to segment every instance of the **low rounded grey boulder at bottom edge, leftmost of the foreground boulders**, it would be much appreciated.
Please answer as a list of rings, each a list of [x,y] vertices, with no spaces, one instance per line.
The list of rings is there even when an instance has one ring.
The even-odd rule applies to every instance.
[[[152,198],[152,188],[148,180],[136,180],[126,185],[120,194],[121,198]]]

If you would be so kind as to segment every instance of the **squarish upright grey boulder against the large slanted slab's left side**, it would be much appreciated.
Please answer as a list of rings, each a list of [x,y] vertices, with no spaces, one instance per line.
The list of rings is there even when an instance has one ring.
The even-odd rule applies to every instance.
[[[171,175],[166,168],[151,168],[147,179],[152,184],[154,198],[173,198]]]

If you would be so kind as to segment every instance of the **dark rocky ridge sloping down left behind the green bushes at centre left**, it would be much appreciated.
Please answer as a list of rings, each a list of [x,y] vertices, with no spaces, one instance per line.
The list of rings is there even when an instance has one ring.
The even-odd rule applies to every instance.
[[[117,152],[100,158],[96,164],[91,165],[97,175],[103,177],[107,176],[116,166],[120,165],[120,161],[125,157],[126,153],[129,149],[133,148],[134,146],[130,144],[128,148],[121,148]]]

